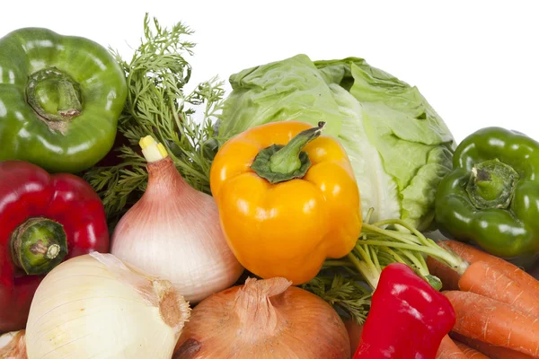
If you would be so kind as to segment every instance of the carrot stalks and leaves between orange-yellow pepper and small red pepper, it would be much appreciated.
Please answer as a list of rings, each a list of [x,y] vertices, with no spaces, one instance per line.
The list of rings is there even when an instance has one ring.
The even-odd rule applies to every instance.
[[[333,305],[343,317],[352,318],[358,324],[367,318],[371,292],[376,289],[382,270],[389,264],[397,262],[410,266],[437,290],[441,289],[442,283],[429,273],[428,256],[459,274],[468,267],[463,258],[440,247],[402,220],[369,223],[372,213],[371,208],[362,224],[359,240],[349,255],[327,259],[318,276],[303,285]]]

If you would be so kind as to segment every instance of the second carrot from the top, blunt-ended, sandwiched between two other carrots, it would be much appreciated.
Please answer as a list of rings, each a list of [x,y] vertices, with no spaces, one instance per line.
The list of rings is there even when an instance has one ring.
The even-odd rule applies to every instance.
[[[539,318],[539,297],[485,262],[474,262],[458,281],[461,291],[481,294],[505,302],[525,314]]]

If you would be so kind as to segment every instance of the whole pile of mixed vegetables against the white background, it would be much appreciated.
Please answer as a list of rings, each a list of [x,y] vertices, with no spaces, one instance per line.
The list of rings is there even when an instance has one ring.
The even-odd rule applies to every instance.
[[[0,39],[0,358],[539,358],[537,141],[358,57],[188,93],[191,33]]]

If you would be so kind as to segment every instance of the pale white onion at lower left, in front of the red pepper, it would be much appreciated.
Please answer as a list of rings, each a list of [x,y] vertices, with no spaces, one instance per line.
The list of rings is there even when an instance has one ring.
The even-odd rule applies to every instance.
[[[170,359],[189,304],[170,282],[111,254],[71,258],[43,279],[26,327],[29,359]]]

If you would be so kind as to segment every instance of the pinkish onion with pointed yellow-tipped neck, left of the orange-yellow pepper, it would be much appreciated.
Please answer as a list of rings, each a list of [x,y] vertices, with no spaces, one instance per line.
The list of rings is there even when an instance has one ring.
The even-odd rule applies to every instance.
[[[221,230],[213,197],[191,188],[170,157],[148,163],[146,192],[119,221],[110,252],[170,280],[197,303],[234,285],[243,267]]]

